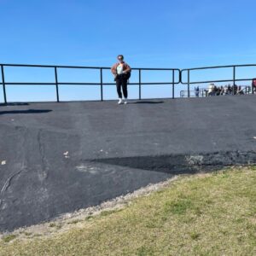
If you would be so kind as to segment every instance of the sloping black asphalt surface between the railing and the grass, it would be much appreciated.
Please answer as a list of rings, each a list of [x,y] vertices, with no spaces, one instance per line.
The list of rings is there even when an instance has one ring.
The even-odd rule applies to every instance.
[[[0,231],[256,162],[256,96],[0,106]]]

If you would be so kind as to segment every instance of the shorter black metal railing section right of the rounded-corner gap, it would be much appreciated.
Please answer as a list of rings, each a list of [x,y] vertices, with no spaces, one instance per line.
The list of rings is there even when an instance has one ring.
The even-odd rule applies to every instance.
[[[195,67],[195,68],[187,68],[181,70],[181,84],[188,85],[188,97],[190,96],[190,84],[207,84],[207,83],[224,83],[224,82],[233,82],[233,88],[235,88],[235,84],[237,81],[252,81],[253,78],[245,78],[245,79],[236,79],[236,69],[238,67],[256,67],[256,64],[245,64],[245,65],[229,65],[229,66],[213,66],[213,67]],[[191,73],[195,70],[209,70],[209,69],[217,69],[217,68],[232,68],[233,77],[231,79],[219,79],[219,80],[203,80],[203,81],[191,81],[190,76]],[[185,77],[184,73],[187,73],[187,82],[184,82],[183,77]],[[254,93],[253,85],[252,85],[252,93]]]

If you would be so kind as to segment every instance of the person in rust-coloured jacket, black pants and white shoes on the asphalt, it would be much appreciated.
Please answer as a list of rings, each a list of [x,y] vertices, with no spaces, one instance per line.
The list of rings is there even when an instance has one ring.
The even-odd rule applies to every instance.
[[[111,68],[111,72],[114,75],[114,81],[116,82],[116,89],[119,96],[119,104],[123,102],[123,96],[121,92],[121,87],[123,90],[123,95],[125,98],[125,104],[128,103],[128,91],[127,91],[127,80],[131,76],[131,67],[125,63],[124,55],[118,55],[118,63],[115,63]]]

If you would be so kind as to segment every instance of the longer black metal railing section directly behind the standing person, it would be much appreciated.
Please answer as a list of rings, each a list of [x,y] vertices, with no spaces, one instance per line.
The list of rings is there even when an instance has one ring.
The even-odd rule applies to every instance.
[[[7,100],[7,92],[6,92],[6,86],[7,85],[54,85],[55,86],[55,95],[56,95],[56,102],[60,102],[60,94],[59,94],[59,85],[98,85],[101,90],[101,101],[104,100],[103,98],[103,86],[104,85],[115,85],[115,83],[104,83],[103,82],[103,70],[109,70],[110,67],[79,67],[79,66],[50,66],[50,65],[26,65],[26,64],[0,64],[1,66],[1,73],[2,73],[2,84],[3,85],[3,100],[4,103],[8,103]],[[55,71],[55,80],[51,83],[16,83],[16,82],[6,82],[5,79],[5,73],[4,73],[4,67],[42,67],[42,68],[52,68]],[[99,71],[99,81],[98,83],[88,83],[88,82],[81,82],[81,83],[73,83],[73,82],[59,82],[58,80],[58,70],[61,68],[72,68],[72,69],[94,69]],[[180,84],[180,70],[178,68],[132,68],[132,71],[137,70],[138,71],[138,83],[129,83],[131,85],[138,85],[138,99],[142,99],[142,85],[148,85],[148,84],[171,84],[172,85],[172,98],[175,97],[175,84]],[[142,72],[143,71],[167,71],[170,72],[170,78],[172,80],[170,82],[142,82]],[[175,78],[178,79],[175,79]]]

